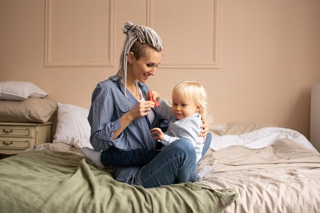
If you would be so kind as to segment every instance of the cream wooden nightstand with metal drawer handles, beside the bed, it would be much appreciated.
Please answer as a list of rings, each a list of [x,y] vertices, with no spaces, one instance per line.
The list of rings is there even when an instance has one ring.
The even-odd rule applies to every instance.
[[[18,154],[33,145],[50,143],[51,125],[0,122],[0,154]]]

